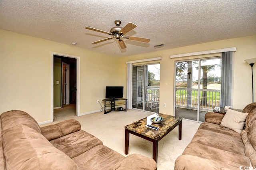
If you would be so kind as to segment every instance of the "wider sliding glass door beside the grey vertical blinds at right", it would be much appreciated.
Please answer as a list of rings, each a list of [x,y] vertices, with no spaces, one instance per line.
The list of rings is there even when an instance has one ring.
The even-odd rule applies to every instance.
[[[176,62],[174,115],[204,121],[220,104],[221,58]]]

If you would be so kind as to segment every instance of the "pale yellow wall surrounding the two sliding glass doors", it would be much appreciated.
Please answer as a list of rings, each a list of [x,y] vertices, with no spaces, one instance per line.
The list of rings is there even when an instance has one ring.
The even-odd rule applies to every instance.
[[[233,108],[243,109],[247,104],[252,102],[251,67],[244,61],[244,59],[256,57],[256,36],[221,40],[163,51],[156,51],[152,53],[133,55],[130,57],[122,57],[120,58],[120,82],[126,81],[127,78],[126,61],[162,57],[162,60],[156,61],[160,62],[160,101],[161,103],[166,103],[166,107],[163,107],[163,104],[160,105],[160,112],[172,115],[174,94],[174,61],[198,57],[179,57],[171,59],[170,55],[229,47],[236,47],[236,52],[234,53]],[[256,66],[254,67],[254,75],[256,77]],[[254,85],[256,84],[255,82],[256,78],[254,78]],[[164,83],[167,83],[167,86],[164,86]],[[254,101],[256,101],[256,90],[254,90],[254,97]]]

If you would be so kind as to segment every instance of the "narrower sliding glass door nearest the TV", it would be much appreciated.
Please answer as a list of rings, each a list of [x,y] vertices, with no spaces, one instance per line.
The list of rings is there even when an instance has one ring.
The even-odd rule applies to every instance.
[[[160,64],[137,65],[132,69],[132,108],[159,112]]]

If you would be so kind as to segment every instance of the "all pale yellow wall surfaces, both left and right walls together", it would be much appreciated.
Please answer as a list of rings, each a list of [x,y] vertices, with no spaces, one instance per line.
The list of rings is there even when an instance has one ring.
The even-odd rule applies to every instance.
[[[0,30],[0,37],[0,113],[19,109],[30,113],[38,122],[50,121],[51,51],[80,57],[80,114],[100,110],[96,101],[105,98],[106,86],[124,86],[126,97],[126,61],[162,57],[161,61],[156,61],[161,67],[161,103],[166,103],[166,107],[160,105],[160,112],[172,115],[174,61],[189,57],[170,59],[170,55],[228,47],[237,49],[234,53],[233,107],[243,109],[252,102],[251,67],[244,59],[256,57],[256,36],[120,58],[5,30]],[[256,77],[256,68],[254,75]]]

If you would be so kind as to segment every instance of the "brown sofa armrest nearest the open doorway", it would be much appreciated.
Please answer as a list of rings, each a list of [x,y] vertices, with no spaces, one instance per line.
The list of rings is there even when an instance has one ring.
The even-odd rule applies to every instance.
[[[77,120],[69,119],[60,123],[56,123],[55,125],[40,127],[40,130],[46,139],[53,140],[81,130],[81,125]]]

